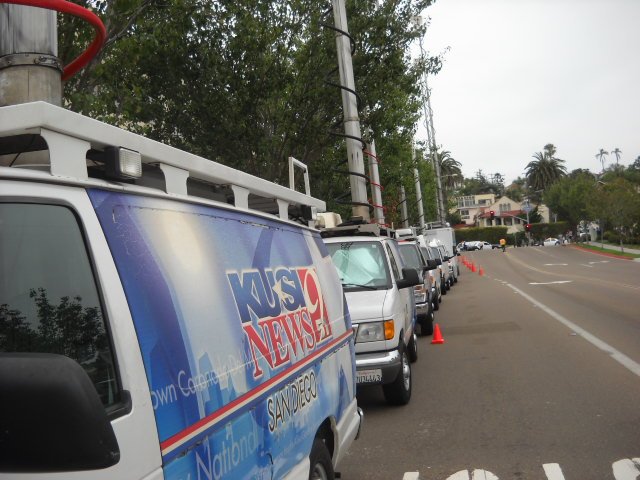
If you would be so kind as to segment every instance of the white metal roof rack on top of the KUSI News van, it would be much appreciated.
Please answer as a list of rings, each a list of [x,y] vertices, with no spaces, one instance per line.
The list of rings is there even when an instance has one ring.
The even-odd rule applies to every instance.
[[[305,193],[294,189],[292,174],[291,188],[287,188],[46,102],[0,108],[0,166],[11,166],[18,156],[28,156],[26,152],[48,148],[48,160],[41,161],[38,169],[46,167],[61,181],[86,181],[90,176],[105,178],[93,175],[94,165],[98,165],[95,154],[113,147],[133,151],[141,158],[143,176],[128,183],[161,189],[171,195],[231,203],[286,220],[297,216],[309,221],[317,212],[326,210],[324,201],[310,195],[306,166],[295,159],[295,166],[302,165],[305,169]],[[34,168],[20,165],[22,161],[14,166]],[[292,158],[289,163],[292,170]],[[145,183],[145,175],[151,177],[152,173],[156,178]]]

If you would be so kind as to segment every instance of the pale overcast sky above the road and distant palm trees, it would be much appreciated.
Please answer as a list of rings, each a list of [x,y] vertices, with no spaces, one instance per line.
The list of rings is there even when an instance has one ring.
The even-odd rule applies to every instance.
[[[465,177],[509,184],[547,143],[568,171],[599,172],[600,148],[623,165],[640,155],[640,0],[436,0],[426,13],[425,50],[450,47],[429,77],[436,141]]]

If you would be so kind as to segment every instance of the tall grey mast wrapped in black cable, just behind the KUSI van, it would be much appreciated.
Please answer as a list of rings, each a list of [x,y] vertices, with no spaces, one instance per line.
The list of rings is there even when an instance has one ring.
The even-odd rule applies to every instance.
[[[336,28],[336,46],[338,50],[338,69],[342,85],[342,106],[344,112],[344,132],[347,141],[347,161],[351,185],[352,215],[362,217],[369,222],[369,202],[367,201],[367,182],[364,174],[360,119],[358,102],[355,95],[353,64],[351,62],[351,41],[348,37],[347,11],[344,0],[333,0],[333,16]]]

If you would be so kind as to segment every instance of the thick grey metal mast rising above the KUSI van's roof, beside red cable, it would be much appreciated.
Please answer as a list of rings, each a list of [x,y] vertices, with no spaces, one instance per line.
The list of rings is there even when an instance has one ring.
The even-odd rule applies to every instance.
[[[0,4],[0,106],[62,105],[56,12]]]

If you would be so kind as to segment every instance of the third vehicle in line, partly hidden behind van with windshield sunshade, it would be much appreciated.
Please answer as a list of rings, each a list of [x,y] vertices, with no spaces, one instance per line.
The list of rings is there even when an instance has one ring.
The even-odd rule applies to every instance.
[[[434,260],[424,258],[417,240],[401,240],[399,242],[400,254],[408,267],[415,268],[421,283],[414,287],[416,300],[416,314],[421,335],[433,333],[433,296],[432,289],[435,280],[429,275],[430,270],[438,267]]]

